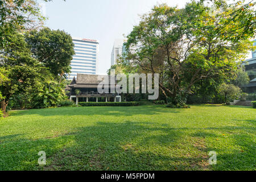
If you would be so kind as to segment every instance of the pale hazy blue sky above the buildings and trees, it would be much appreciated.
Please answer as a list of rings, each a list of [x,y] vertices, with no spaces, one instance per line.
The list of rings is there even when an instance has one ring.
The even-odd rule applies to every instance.
[[[40,2],[40,1],[39,1]],[[110,68],[115,39],[124,39],[139,23],[140,15],[154,5],[184,7],[189,0],[53,0],[43,3],[45,26],[64,30],[73,37],[96,39],[100,43],[98,75]]]

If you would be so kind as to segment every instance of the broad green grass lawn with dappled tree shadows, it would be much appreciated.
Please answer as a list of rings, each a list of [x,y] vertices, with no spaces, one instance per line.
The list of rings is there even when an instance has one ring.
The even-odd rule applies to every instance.
[[[255,118],[251,107],[220,105],[12,111],[0,120],[0,169],[255,170]]]

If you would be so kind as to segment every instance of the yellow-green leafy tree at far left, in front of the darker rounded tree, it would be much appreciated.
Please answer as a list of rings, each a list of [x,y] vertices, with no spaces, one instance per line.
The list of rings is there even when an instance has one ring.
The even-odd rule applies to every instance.
[[[10,44],[0,50],[1,75],[6,78],[0,84],[1,109],[4,113],[11,96],[35,85],[38,78],[44,77],[43,72],[46,69],[32,57],[22,34],[16,32],[6,39]]]

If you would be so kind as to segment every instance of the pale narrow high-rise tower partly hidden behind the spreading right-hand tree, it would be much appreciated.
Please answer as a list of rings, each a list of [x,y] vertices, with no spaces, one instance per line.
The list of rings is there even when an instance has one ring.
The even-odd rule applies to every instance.
[[[124,42],[125,40],[123,39],[115,39],[114,46],[111,53],[111,65],[114,65],[115,63],[117,63],[119,56],[122,55],[124,51],[124,46],[123,46]]]

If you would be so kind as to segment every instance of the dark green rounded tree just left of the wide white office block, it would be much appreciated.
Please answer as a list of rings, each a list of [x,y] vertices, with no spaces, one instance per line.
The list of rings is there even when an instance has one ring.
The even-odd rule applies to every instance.
[[[26,41],[30,45],[31,52],[50,72],[59,78],[64,73],[71,72],[71,60],[75,54],[71,35],[60,30],[43,28],[32,30],[26,34]]]

